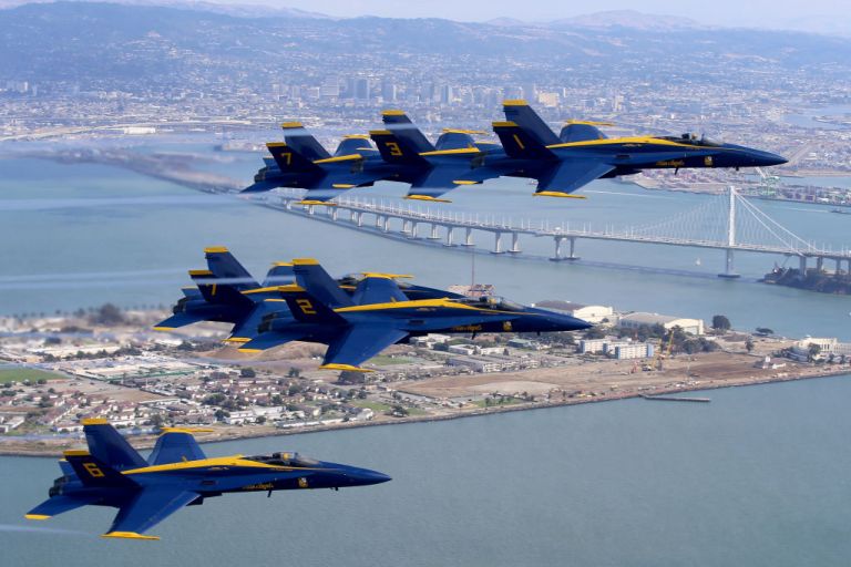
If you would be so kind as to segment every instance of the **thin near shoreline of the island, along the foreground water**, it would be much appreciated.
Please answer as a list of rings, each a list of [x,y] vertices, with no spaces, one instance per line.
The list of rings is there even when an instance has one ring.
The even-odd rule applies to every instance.
[[[782,382],[797,382],[800,380],[814,380],[814,379],[821,379],[821,378],[833,378],[833,377],[841,377],[841,375],[851,375],[851,372],[849,369],[837,369],[829,372],[818,372],[818,373],[804,373],[804,374],[798,374],[798,375],[785,375],[785,377],[767,377],[765,379],[753,379],[742,382],[734,382],[734,383],[708,383],[708,384],[700,384],[699,386],[681,386],[681,388],[668,388],[668,389],[659,389],[654,390],[653,395],[667,395],[667,394],[677,394],[677,393],[684,393],[684,392],[701,392],[701,391],[709,391],[709,390],[720,390],[726,388],[746,388],[746,386],[753,386],[753,385],[766,385],[771,383],[782,383]],[[526,403],[519,403],[513,405],[506,405],[506,406],[491,406],[491,408],[481,408],[476,410],[469,410],[469,411],[457,411],[451,414],[442,414],[442,415],[416,415],[410,417],[396,417],[390,420],[380,420],[380,421],[369,421],[369,422],[357,422],[357,423],[337,423],[331,425],[319,425],[314,426],[309,429],[295,429],[293,431],[287,430],[280,430],[280,429],[271,429],[269,431],[249,431],[243,434],[230,434],[229,432],[224,432],[224,434],[221,434],[216,436],[215,439],[211,436],[198,436],[196,437],[197,442],[202,445],[211,444],[211,443],[223,443],[226,441],[239,441],[239,440],[248,440],[248,439],[265,439],[265,437],[283,437],[283,436],[289,436],[289,435],[299,435],[299,434],[309,434],[309,433],[321,433],[321,432],[328,432],[328,431],[336,431],[336,430],[349,430],[349,429],[359,429],[359,427],[376,427],[376,426],[386,426],[386,425],[403,425],[409,423],[428,423],[428,422],[440,422],[440,421],[449,421],[449,420],[459,420],[459,419],[465,419],[465,417],[480,417],[483,415],[493,415],[493,414],[500,414],[500,413],[507,413],[507,412],[523,412],[523,411],[533,411],[533,410],[546,410],[546,409],[553,409],[553,408],[562,408],[562,406],[568,406],[568,405],[580,405],[580,404],[587,404],[587,403],[604,403],[604,402],[613,402],[613,401],[622,401],[622,400],[629,400],[629,399],[642,399],[646,395],[644,392],[624,392],[624,393],[614,393],[612,395],[601,395],[596,398],[583,398],[583,399],[570,399],[570,400],[563,400],[557,402],[526,402]],[[13,437],[6,437],[6,439],[13,439]],[[131,443],[135,449],[137,450],[150,450],[154,446],[154,440],[156,439],[155,435],[140,435],[139,440],[141,442],[139,443]],[[23,449],[23,447],[6,447],[3,446],[3,441],[0,439],[0,457],[45,457],[45,458],[57,458],[62,456],[62,451],[69,449],[73,445],[81,445],[83,443],[82,439],[75,439],[74,443],[63,444],[59,445],[57,447],[51,449],[39,449],[39,447],[32,447],[32,449]],[[134,441],[132,437],[130,437],[130,441]]]

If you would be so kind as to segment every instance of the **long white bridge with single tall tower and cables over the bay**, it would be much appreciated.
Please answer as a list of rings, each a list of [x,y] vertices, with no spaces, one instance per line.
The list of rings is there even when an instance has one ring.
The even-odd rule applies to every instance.
[[[578,259],[576,243],[585,238],[725,250],[724,271],[718,274],[725,278],[738,277],[734,262],[737,251],[797,257],[801,274],[807,272],[809,260],[816,261],[819,271],[824,268],[826,260],[832,260],[835,262],[835,274],[851,274],[851,248],[832,249],[804,240],[760,210],[732,186],[726,195],[704,199],[701,205],[671,218],[619,228],[594,228],[589,224],[570,223],[551,226],[540,220],[498,219],[493,216],[480,218],[478,214],[434,210],[410,202],[386,203],[362,197],[339,197],[335,206],[303,205],[299,204],[301,197],[303,192],[289,189],[266,197],[266,204],[290,213],[319,216],[328,221],[348,223],[385,234],[398,230],[398,234],[411,239],[420,238],[418,230],[424,226],[424,238],[442,239],[445,246],[474,246],[473,233],[486,233],[493,237],[493,254],[521,254],[520,237],[523,235],[552,238],[553,261]],[[457,241],[458,233],[461,233],[461,237]],[[507,247],[503,246],[503,238],[507,240]]]

